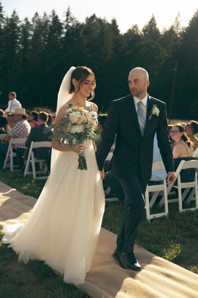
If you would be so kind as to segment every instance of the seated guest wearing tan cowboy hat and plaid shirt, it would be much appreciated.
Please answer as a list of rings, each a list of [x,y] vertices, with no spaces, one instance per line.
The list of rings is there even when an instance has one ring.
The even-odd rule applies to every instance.
[[[3,160],[3,153],[7,153],[8,149],[8,141],[11,138],[27,138],[29,136],[30,132],[30,125],[28,121],[26,120],[28,115],[26,114],[26,110],[23,108],[16,108],[15,111],[12,112],[12,115],[14,115],[15,125],[11,129],[11,131],[6,134],[2,139],[0,143],[0,167],[3,167],[4,160]],[[13,144],[13,151],[16,151],[16,148],[25,146],[25,143],[18,143]],[[17,159],[13,161],[14,163],[17,162]]]

